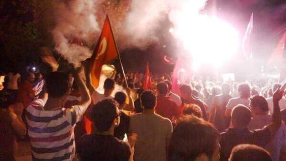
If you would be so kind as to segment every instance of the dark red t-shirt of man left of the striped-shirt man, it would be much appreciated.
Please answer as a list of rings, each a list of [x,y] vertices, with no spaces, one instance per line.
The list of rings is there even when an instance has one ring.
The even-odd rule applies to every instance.
[[[29,81],[23,81],[20,84],[17,101],[23,103],[24,109],[26,109],[32,101],[29,95],[34,94],[33,85]]]

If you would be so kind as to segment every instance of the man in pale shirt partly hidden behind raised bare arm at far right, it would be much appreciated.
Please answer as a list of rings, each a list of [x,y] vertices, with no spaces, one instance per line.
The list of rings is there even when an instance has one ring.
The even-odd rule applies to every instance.
[[[272,102],[273,104],[273,102]],[[255,95],[250,101],[251,112],[254,115],[248,127],[250,130],[262,129],[272,121],[272,116],[269,114],[268,103],[262,96]],[[286,127],[282,123],[278,131],[275,133],[270,143],[265,146],[265,149],[270,152],[273,161],[279,161],[280,150],[286,141]]]

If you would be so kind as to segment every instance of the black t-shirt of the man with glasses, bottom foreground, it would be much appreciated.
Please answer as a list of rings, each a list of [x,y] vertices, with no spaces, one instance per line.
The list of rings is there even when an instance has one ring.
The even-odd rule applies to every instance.
[[[130,145],[111,135],[84,135],[77,152],[81,161],[128,161]]]

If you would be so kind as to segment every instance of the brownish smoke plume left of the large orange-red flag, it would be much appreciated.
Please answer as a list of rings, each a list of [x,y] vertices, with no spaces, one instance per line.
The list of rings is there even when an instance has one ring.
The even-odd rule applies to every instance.
[[[88,46],[95,44],[99,31],[95,0],[54,0],[54,8],[56,26],[52,33],[55,49],[78,67],[81,61],[92,55]]]

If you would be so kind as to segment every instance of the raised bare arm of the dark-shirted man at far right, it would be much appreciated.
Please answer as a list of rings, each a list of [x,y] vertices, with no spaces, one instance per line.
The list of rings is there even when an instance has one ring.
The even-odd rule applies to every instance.
[[[273,94],[273,115],[272,115],[272,123],[267,125],[266,128],[270,129],[271,135],[275,135],[276,131],[281,126],[281,113],[279,107],[279,100],[283,97],[284,91],[277,90]]]

